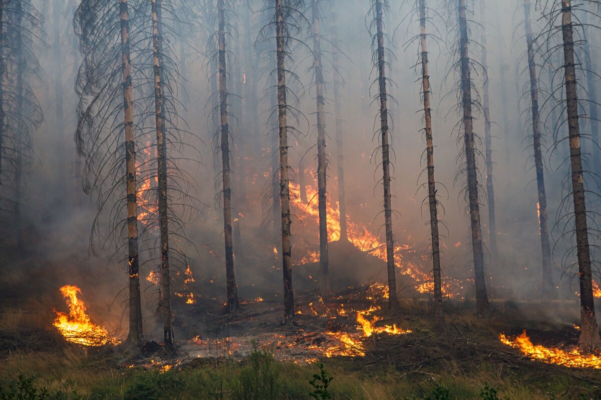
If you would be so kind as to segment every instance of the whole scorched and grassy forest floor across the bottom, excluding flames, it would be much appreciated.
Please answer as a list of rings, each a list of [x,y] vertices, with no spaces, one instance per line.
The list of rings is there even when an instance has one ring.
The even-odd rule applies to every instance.
[[[411,333],[376,333],[363,342],[364,355],[325,357],[311,353],[326,346],[324,339],[316,342],[316,335],[307,332],[318,329],[324,320],[332,326],[331,318],[307,315],[311,309],[308,302],[301,302],[299,326],[292,328],[278,326],[280,312],[268,302],[261,306],[275,312],[264,312],[265,317],[258,317],[261,312],[252,305],[226,321],[228,336],[242,335],[241,329],[262,329],[261,334],[269,332],[276,338],[296,338],[282,339],[285,344],[270,341],[261,347],[261,343],[246,343],[249,347],[241,351],[232,342],[220,347],[219,339],[203,342],[190,338],[178,342],[176,353],[150,344],[143,356],[122,345],[84,350],[67,344],[50,327],[52,320],[47,314],[3,303],[0,398],[42,399],[40,390],[37,397],[32,393],[46,389],[48,399],[304,400],[311,398],[314,389],[310,381],[323,363],[333,377],[328,389],[331,398],[337,400],[601,399],[599,369],[537,362],[499,341],[499,333],[517,335],[528,329],[535,344],[574,345],[578,332],[571,323],[575,321],[545,323],[542,320],[547,318],[541,317],[544,313],[537,312],[536,306],[493,305],[492,317],[480,319],[472,313],[473,303],[448,303],[446,327],[435,330],[426,302],[404,300],[399,316],[383,318],[411,329]],[[573,306],[575,303],[570,303],[569,307]],[[253,318],[246,318],[249,308]],[[215,326],[219,324],[224,320]],[[257,338],[261,334],[253,333]],[[285,357],[278,349],[308,336],[311,345],[285,353],[290,358],[282,361]],[[213,345],[215,353],[210,354]],[[203,353],[203,346],[208,354]],[[11,391],[13,395],[19,391],[30,394],[11,397]]]

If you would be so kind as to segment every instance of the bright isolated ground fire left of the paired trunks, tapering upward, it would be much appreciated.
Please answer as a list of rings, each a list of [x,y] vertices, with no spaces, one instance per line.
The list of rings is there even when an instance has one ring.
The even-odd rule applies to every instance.
[[[104,327],[91,323],[90,315],[86,314],[86,306],[77,295],[81,289],[77,286],[61,287],[63,297],[67,299],[69,314],[55,311],[54,326],[61,332],[67,342],[83,346],[102,346],[107,343],[120,344],[120,341],[109,335]]]

